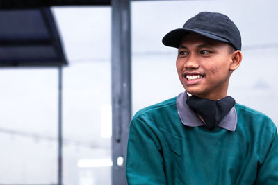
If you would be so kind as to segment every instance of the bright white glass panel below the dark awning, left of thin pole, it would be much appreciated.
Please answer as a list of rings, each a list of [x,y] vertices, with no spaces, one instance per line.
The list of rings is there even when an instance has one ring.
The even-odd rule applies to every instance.
[[[0,70],[0,184],[54,184],[58,71]]]

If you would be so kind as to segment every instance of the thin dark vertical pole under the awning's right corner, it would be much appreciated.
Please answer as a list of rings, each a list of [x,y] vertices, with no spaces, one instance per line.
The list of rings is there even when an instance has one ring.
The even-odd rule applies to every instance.
[[[62,185],[63,182],[63,138],[62,138],[62,67],[58,67],[58,185]]]

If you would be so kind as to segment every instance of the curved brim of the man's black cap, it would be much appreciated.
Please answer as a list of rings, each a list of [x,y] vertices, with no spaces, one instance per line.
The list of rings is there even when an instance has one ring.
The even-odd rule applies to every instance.
[[[197,33],[199,35],[203,35],[204,37],[208,37],[211,39],[215,39],[221,42],[227,42],[227,43],[231,43],[229,42],[229,40],[227,39],[223,39],[222,37],[218,37],[216,35],[212,35],[211,33],[204,33],[202,31],[198,31],[198,30],[191,30],[191,29],[183,29],[183,28],[179,28],[176,30],[172,30],[169,33],[167,33],[163,39],[162,39],[162,43],[165,46],[170,46],[170,47],[175,47],[175,48],[179,48],[179,44],[181,42],[181,39],[187,35],[188,33]]]

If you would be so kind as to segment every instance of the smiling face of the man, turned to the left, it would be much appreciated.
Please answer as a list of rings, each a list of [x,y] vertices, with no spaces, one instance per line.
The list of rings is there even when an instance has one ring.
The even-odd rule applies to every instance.
[[[186,35],[176,63],[181,84],[188,93],[202,98],[227,96],[232,53],[229,44],[195,33]]]

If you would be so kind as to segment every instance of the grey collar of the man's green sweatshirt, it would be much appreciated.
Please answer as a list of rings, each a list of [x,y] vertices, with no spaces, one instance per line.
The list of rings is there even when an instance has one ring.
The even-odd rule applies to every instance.
[[[197,114],[186,104],[186,91],[179,94],[177,97],[177,110],[181,123],[189,127],[199,127],[204,125]],[[226,130],[235,131],[238,117],[236,115],[236,108],[232,107],[227,116],[224,116],[222,121],[218,124],[218,127],[222,127]]]

